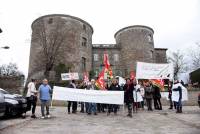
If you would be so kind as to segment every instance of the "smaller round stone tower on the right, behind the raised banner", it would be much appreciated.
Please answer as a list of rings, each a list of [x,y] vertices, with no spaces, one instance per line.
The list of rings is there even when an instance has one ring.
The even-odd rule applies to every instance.
[[[153,62],[154,31],[142,25],[120,29],[115,33],[116,43],[121,46],[121,66],[124,75],[136,70],[136,62]]]

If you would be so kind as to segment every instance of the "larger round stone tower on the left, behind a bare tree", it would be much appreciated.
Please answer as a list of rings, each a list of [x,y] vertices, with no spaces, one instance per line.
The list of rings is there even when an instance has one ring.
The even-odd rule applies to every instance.
[[[36,19],[32,23],[28,77],[42,78],[48,66],[54,72],[60,63],[71,67],[71,72],[90,71],[92,34],[92,26],[77,17],[51,14]],[[55,58],[52,68],[47,65],[51,58]]]

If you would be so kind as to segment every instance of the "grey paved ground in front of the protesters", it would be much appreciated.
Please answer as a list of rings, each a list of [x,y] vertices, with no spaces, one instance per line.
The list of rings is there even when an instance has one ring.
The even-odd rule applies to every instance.
[[[40,109],[37,110],[39,113]],[[0,134],[200,134],[198,107],[184,107],[183,114],[175,114],[167,107],[162,111],[139,111],[133,118],[126,117],[126,111],[122,110],[117,116],[106,113],[68,115],[65,110],[55,107],[50,119],[3,120]]]

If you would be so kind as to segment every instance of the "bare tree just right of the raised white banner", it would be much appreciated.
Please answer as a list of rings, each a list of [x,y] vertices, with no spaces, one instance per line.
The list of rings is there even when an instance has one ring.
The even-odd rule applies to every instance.
[[[179,73],[184,73],[187,70],[184,55],[179,50],[172,52],[172,55],[168,57],[168,62],[173,63],[175,79],[178,78]]]

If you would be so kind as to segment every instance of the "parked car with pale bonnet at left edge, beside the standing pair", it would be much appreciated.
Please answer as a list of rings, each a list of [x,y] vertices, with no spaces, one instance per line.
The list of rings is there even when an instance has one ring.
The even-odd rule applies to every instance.
[[[22,115],[27,110],[27,100],[22,95],[10,94],[8,91],[0,88],[0,93],[5,97],[6,116]]]

